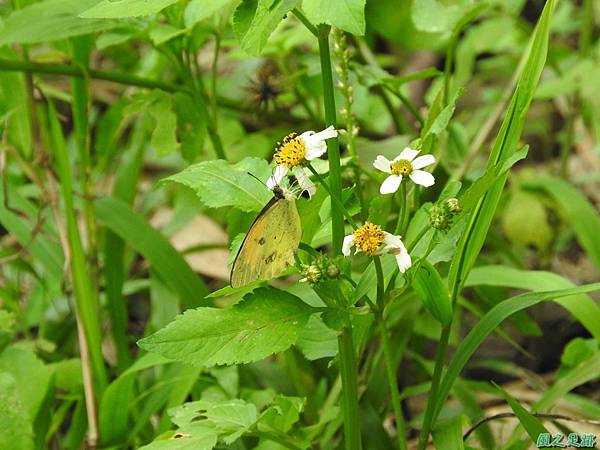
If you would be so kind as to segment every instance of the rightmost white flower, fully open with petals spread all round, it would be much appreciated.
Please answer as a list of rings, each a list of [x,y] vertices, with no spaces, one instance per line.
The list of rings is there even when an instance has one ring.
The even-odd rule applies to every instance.
[[[423,167],[435,163],[433,155],[423,155],[417,158],[419,150],[413,150],[406,147],[392,161],[385,156],[379,155],[373,161],[373,167],[382,172],[389,173],[390,176],[385,179],[379,188],[382,194],[393,194],[400,187],[402,177],[408,175],[413,182],[421,186],[429,187],[435,183],[435,178],[429,172],[425,172]]]

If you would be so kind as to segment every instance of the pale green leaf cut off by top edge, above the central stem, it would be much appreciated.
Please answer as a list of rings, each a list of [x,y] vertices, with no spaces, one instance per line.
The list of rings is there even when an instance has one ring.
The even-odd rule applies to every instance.
[[[303,0],[302,9],[314,24],[326,23],[349,33],[365,34],[366,0]]]

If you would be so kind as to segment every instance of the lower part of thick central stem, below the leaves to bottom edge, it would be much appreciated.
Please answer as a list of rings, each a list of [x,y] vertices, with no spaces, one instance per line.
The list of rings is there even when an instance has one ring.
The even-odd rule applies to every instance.
[[[360,418],[358,408],[357,365],[352,328],[345,327],[338,336],[340,375],[342,378],[342,409],[346,450],[361,450]]]

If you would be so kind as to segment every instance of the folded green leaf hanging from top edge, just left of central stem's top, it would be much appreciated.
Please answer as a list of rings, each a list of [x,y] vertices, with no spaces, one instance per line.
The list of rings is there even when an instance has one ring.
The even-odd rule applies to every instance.
[[[271,33],[300,0],[244,0],[233,15],[233,31],[244,51],[258,55]]]

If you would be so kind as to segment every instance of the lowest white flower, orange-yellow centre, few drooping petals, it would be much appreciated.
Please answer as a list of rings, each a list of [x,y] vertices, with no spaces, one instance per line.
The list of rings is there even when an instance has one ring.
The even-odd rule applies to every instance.
[[[344,238],[342,244],[342,253],[350,256],[350,250],[356,247],[355,254],[358,252],[367,255],[382,255],[390,253],[396,257],[396,263],[400,272],[406,272],[412,265],[410,255],[402,242],[400,236],[395,236],[383,229],[379,225],[366,222],[360,228],[354,230]]]

